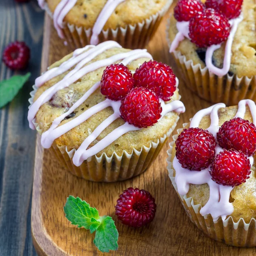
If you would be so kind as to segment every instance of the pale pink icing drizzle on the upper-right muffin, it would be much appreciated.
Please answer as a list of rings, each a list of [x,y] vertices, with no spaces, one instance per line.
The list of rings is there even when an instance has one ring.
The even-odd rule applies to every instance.
[[[229,20],[230,23],[230,35],[227,38],[224,60],[223,60],[223,68],[215,67],[212,63],[212,55],[216,49],[221,47],[221,44],[213,44],[210,47],[207,47],[206,55],[205,55],[205,64],[210,72],[217,76],[224,76],[230,70],[231,63],[231,53],[232,53],[232,44],[236,34],[236,30],[238,28],[239,23],[243,20],[243,15],[241,14],[239,17]],[[179,43],[184,40],[184,38],[189,38],[189,21],[177,21],[176,27],[178,29],[178,33],[175,36],[175,39],[172,41],[169,52],[174,52],[177,49]]]

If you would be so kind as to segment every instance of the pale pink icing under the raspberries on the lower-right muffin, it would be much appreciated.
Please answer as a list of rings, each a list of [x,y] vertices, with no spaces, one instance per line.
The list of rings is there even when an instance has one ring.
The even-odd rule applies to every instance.
[[[236,117],[244,118],[246,105],[249,106],[250,112],[253,116],[253,123],[256,124],[256,105],[250,100],[241,100],[239,102],[238,111]],[[190,127],[199,127],[199,124],[204,116],[210,114],[211,125],[207,130],[213,134],[216,138],[219,126],[218,110],[224,108],[225,104],[219,103],[213,105],[209,108],[198,111],[190,122]],[[218,154],[223,149],[217,145],[215,149],[215,154]],[[249,157],[250,165],[253,165],[253,157]],[[175,169],[175,182],[177,184],[177,190],[180,195],[186,195],[189,192],[189,184],[209,185],[209,200],[207,204],[201,208],[201,215],[211,214],[214,221],[217,221],[221,216],[223,220],[231,215],[234,208],[233,204],[229,202],[230,192],[232,191],[232,186],[223,186],[215,183],[209,173],[209,167],[207,169],[198,171],[190,171],[189,169],[182,168],[181,164],[178,162],[176,156],[173,160],[173,168]]]

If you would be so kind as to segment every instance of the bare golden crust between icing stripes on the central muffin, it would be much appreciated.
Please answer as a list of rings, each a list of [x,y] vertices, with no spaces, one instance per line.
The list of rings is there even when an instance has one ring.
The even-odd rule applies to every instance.
[[[107,49],[101,54],[97,55],[91,61],[89,61],[85,66],[90,65],[96,61],[105,60],[113,55],[117,55],[119,53],[130,52],[129,49],[113,47],[111,49]],[[140,50],[141,51],[141,50]],[[73,53],[65,56],[60,61],[55,62],[49,67],[49,70],[59,67],[65,61],[72,58]],[[128,69],[131,70],[132,73],[140,67],[145,61],[149,61],[149,58],[138,58],[135,61],[131,61],[130,64],[127,65]],[[116,63],[119,63],[117,61]],[[73,67],[74,68],[74,67]],[[45,82],[35,93],[34,102],[41,96],[44,91],[61,81],[64,76],[67,75],[71,70],[71,68],[67,72],[64,72],[51,80]],[[38,123],[39,128],[41,129],[41,133],[47,131],[54,119],[58,116],[61,116],[63,113],[67,112],[68,109],[77,102],[81,96],[84,95],[94,84],[99,82],[102,78],[102,73],[106,67],[98,68],[92,72],[87,73],[82,76],[81,79],[78,79],[76,82],[71,84],[70,86],[58,90],[57,93],[46,103],[44,103],[39,111],[36,113],[35,122]],[[177,90],[170,102],[178,100],[180,98]],[[94,93],[92,93],[87,100],[82,103],[79,108],[67,116],[63,121],[61,121],[60,125],[64,125],[67,122],[75,119],[91,107],[95,106],[99,102],[103,102],[105,100],[105,96],[100,92],[100,88],[98,88]],[[167,103],[167,102],[166,102]],[[63,134],[61,137],[58,137],[55,140],[55,143],[58,146],[67,146],[68,150],[78,149],[83,141],[90,135],[92,132],[109,116],[113,114],[113,109],[111,107],[105,108],[102,111],[94,114],[85,122],[82,122],[80,125],[77,125],[75,128],[71,129],[67,133]],[[177,121],[178,113],[172,111],[162,116],[158,122],[151,127],[142,128],[138,131],[130,131],[113,143],[108,145],[104,150],[100,151],[97,156],[102,155],[102,153],[106,153],[108,156],[111,156],[113,152],[116,152],[118,155],[122,155],[123,151],[131,154],[133,149],[140,150],[143,145],[149,146],[151,142],[157,142],[158,139],[164,137],[165,134],[170,130],[170,128],[175,125]],[[101,141],[104,137],[110,134],[115,128],[123,125],[125,122],[123,119],[116,119],[111,125],[109,125],[105,130],[90,144],[89,148],[93,145],[96,145],[97,142]]]

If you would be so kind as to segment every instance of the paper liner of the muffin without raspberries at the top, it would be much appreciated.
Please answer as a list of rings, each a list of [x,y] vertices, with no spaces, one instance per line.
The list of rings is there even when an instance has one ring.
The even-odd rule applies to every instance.
[[[135,25],[127,25],[124,28],[102,30],[99,34],[99,43],[113,40],[119,43],[123,48],[128,49],[143,49],[150,38],[154,35],[157,27],[160,24],[163,16],[168,11],[173,0],[168,0],[166,5],[156,14],[151,15],[148,19],[143,20]],[[52,17],[47,4],[44,9]],[[78,27],[74,24],[66,23],[63,28],[64,41],[71,45],[74,49],[84,47],[90,44],[92,28],[86,29]]]

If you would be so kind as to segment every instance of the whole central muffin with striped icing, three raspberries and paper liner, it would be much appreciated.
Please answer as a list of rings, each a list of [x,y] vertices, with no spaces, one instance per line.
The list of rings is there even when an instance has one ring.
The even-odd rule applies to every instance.
[[[171,68],[151,59],[107,41],[52,64],[35,81],[28,113],[42,146],[87,180],[144,172],[185,111]]]

